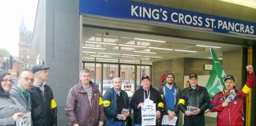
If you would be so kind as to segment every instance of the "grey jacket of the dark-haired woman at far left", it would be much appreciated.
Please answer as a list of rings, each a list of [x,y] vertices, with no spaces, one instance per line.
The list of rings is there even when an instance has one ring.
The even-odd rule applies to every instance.
[[[15,126],[14,113],[26,113],[26,109],[15,98],[9,95],[0,96],[0,125]]]

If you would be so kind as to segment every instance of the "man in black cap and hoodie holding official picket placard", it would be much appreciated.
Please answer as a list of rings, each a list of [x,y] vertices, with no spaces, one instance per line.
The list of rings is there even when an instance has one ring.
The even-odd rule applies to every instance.
[[[141,107],[146,99],[156,103],[156,117],[160,117],[164,103],[160,93],[152,87],[149,76],[141,77],[142,87],[134,92],[130,100],[131,108],[134,109],[134,126],[141,126]]]

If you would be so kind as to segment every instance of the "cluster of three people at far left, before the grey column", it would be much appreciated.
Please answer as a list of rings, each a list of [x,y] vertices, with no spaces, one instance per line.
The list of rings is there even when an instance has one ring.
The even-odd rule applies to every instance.
[[[0,73],[0,125],[15,126],[25,113],[31,113],[34,126],[57,126],[57,104],[51,87],[46,84],[49,67],[35,65],[24,71],[17,85],[8,72]]]

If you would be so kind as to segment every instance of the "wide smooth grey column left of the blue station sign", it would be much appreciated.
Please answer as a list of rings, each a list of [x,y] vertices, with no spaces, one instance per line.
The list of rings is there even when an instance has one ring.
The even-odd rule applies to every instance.
[[[45,64],[50,66],[47,84],[58,104],[58,125],[68,125],[63,109],[70,87],[78,82],[80,24],[78,0],[46,1]]]

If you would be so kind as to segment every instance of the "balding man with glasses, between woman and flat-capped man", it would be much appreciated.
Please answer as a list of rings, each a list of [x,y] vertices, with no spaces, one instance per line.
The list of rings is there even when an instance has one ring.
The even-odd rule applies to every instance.
[[[21,76],[18,77],[17,85],[13,85],[10,90],[10,95],[16,98],[18,102],[27,110],[31,111],[31,98],[28,90],[32,87],[34,76],[32,72],[24,71],[21,72]]]

